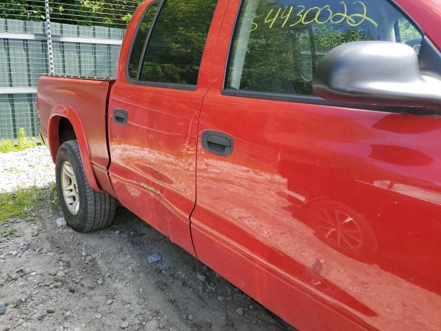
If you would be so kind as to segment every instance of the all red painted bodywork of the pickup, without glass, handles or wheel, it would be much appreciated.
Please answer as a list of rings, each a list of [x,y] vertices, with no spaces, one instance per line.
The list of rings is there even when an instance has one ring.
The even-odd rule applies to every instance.
[[[222,95],[238,0],[219,1],[196,90],[134,86],[125,61],[151,2],[108,114],[109,82],[41,79],[52,155],[63,116],[101,183],[107,114],[123,205],[296,328],[441,330],[441,119]],[[438,1],[398,4],[440,48]],[[204,130],[230,134],[233,154],[203,150]]]

